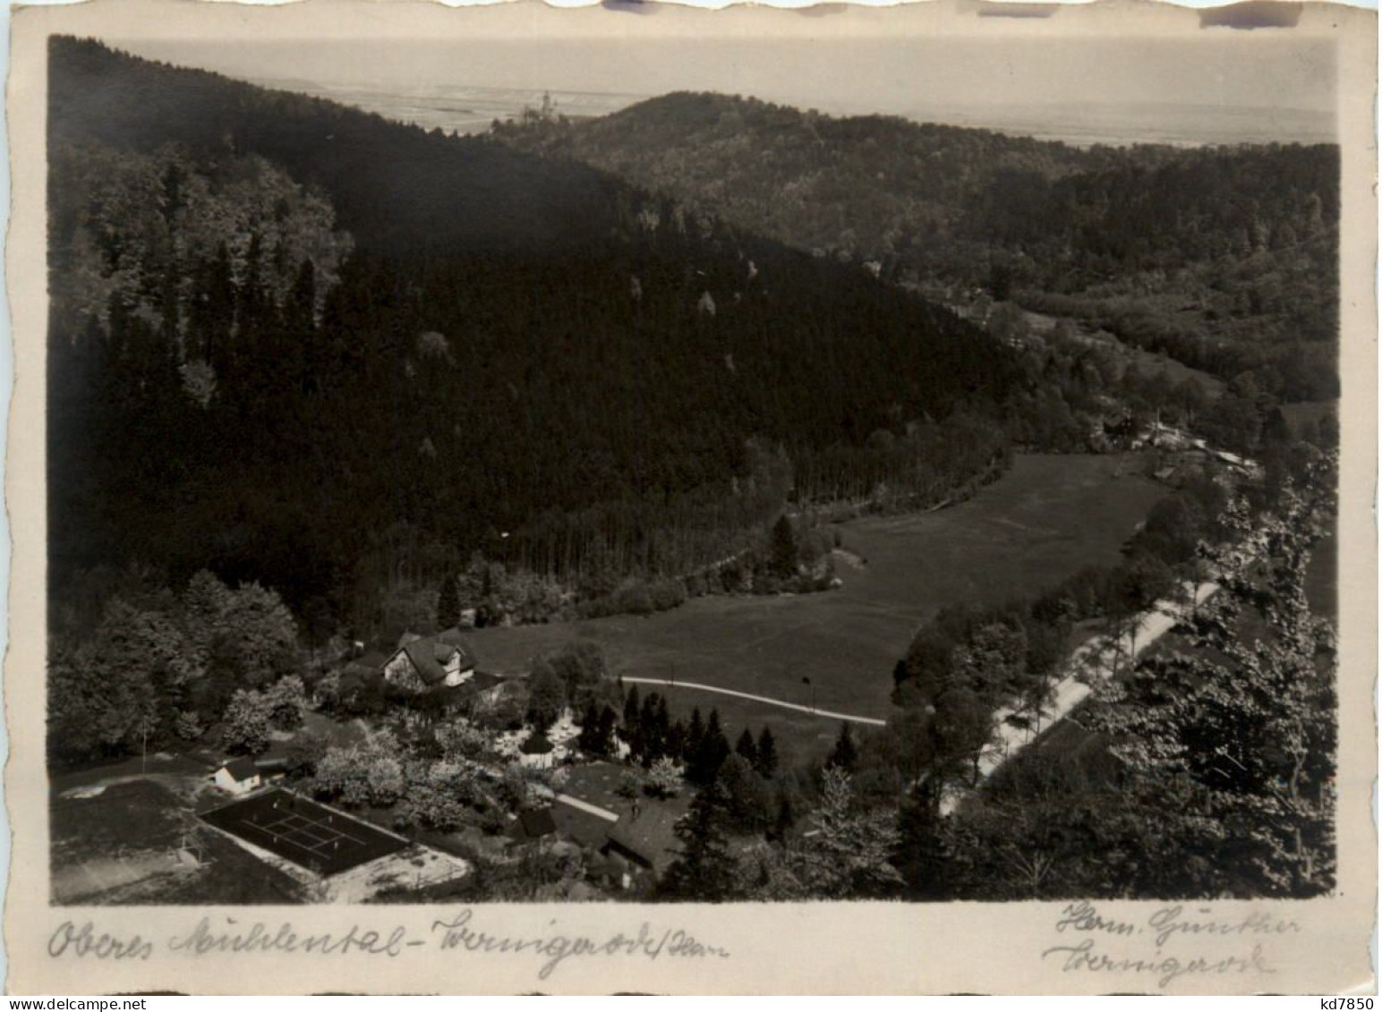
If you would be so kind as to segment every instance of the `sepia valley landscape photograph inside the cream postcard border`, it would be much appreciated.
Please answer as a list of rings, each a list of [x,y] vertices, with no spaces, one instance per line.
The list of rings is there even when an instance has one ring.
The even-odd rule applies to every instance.
[[[44,35],[44,902],[1338,896],[1325,15],[648,7]]]

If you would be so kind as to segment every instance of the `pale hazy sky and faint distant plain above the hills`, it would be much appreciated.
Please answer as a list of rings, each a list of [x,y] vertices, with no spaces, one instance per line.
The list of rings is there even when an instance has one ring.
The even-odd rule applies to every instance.
[[[828,23],[822,18],[821,23]],[[748,94],[822,112],[919,106],[1164,104],[1328,112],[1331,44],[1231,33],[1187,41],[1090,37],[543,40],[119,39],[140,55],[249,80],[409,88],[437,84],[655,95]]]

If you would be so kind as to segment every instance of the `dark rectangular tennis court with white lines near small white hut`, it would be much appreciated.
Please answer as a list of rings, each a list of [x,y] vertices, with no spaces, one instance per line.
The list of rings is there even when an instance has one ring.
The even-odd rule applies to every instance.
[[[202,819],[319,875],[334,875],[408,846],[406,839],[285,790],[224,805]]]

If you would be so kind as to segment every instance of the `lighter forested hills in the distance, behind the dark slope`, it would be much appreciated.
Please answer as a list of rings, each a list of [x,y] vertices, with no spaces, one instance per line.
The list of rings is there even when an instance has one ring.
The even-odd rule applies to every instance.
[[[493,134],[956,300],[981,287],[1274,396],[1336,396],[1334,146],[1082,150],[705,94]]]

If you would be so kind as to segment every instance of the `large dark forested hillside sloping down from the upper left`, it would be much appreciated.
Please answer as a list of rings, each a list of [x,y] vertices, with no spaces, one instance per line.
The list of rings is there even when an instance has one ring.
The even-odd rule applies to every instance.
[[[857,268],[489,139],[51,55],[55,598],[211,569],[369,630],[473,552],[601,592],[761,538],[793,475],[940,498],[1006,450],[1014,353]]]

